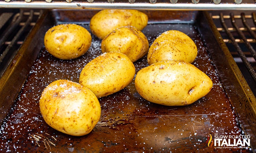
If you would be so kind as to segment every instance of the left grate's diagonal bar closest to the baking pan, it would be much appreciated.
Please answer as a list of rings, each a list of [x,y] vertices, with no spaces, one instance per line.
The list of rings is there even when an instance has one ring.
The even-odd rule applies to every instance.
[[[21,12],[20,14],[23,14],[23,12]],[[19,29],[17,34],[12,39],[12,42],[6,47],[5,51],[2,53],[2,56],[0,57],[0,64],[2,63],[3,59],[5,58],[6,54],[9,52],[9,50],[12,48],[12,46],[18,41],[19,37],[23,34],[23,32],[25,31],[25,28],[30,25],[32,17],[33,17],[33,10],[31,9],[30,16],[27,19],[25,25],[23,25],[22,28]],[[15,53],[13,53],[13,54],[15,54]],[[12,58],[9,59],[9,61],[11,61],[11,60],[12,60]]]

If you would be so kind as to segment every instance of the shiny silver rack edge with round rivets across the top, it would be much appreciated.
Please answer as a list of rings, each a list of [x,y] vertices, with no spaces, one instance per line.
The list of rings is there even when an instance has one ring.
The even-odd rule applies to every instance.
[[[33,9],[256,10],[255,0],[1,0],[0,7]]]

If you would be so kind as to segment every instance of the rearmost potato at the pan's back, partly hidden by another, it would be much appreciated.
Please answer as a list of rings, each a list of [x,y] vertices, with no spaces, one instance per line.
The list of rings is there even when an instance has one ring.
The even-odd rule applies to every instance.
[[[99,39],[122,26],[131,25],[142,30],[148,24],[148,15],[138,10],[105,9],[97,12],[90,20],[90,29]]]

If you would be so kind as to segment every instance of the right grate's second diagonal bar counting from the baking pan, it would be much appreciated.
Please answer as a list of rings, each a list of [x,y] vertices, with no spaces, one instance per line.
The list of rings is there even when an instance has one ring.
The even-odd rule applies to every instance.
[[[250,51],[251,55],[254,57],[254,59],[256,60],[256,52],[253,49],[253,47],[251,46],[251,44],[247,41],[246,37],[244,36],[243,32],[241,32],[236,24],[236,20],[234,18],[234,15],[231,13],[231,22],[232,25],[235,27],[237,33],[239,34],[239,36],[243,39],[245,46],[248,48],[248,50]],[[243,20],[243,19],[242,19]],[[243,23],[246,24],[246,20],[243,20]],[[250,29],[250,28],[249,28]]]

